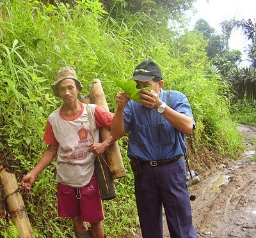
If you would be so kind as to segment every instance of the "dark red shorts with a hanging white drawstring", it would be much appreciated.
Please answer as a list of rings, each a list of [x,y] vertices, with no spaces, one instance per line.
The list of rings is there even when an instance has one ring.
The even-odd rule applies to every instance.
[[[96,175],[83,188],[72,188],[58,182],[58,215],[81,216],[83,221],[97,223],[104,219]]]

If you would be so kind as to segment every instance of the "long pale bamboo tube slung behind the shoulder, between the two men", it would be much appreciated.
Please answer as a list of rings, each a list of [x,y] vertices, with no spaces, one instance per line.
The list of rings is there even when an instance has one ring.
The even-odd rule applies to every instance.
[[[108,103],[106,101],[100,80],[98,78],[93,79],[93,84],[90,89],[90,101],[109,112]],[[102,140],[105,140],[110,135],[110,131],[106,128],[101,128],[100,133]],[[124,177],[126,175],[118,142],[115,142],[108,147],[107,161],[109,169],[112,172],[113,179]]]

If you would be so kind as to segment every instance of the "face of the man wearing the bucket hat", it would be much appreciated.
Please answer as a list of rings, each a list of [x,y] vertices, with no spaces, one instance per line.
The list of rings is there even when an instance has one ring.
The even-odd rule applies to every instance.
[[[76,87],[76,82],[72,78],[66,78],[58,84],[58,90],[61,99],[64,103],[70,103],[77,100],[79,90]]]

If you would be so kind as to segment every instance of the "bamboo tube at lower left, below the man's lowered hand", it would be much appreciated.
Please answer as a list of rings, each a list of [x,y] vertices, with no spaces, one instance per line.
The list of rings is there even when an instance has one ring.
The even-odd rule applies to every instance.
[[[24,202],[19,193],[19,186],[15,174],[0,166],[0,180],[3,186],[8,210],[13,224],[19,230],[20,238],[34,238],[33,230],[29,222]]]

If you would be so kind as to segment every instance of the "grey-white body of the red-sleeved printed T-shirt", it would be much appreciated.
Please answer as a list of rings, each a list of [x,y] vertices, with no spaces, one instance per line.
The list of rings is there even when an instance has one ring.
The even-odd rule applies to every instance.
[[[94,117],[96,105],[88,105],[92,129],[86,107],[82,105],[81,114],[74,119],[63,119],[60,115],[61,108],[52,112],[48,118],[59,142],[56,179],[61,184],[74,188],[83,187],[90,182],[94,172],[95,154],[88,151],[88,145],[92,144],[93,139],[99,142],[99,128],[96,128]]]

